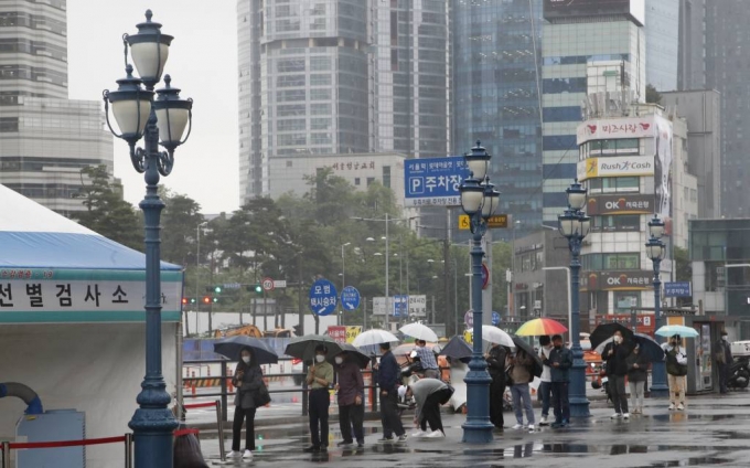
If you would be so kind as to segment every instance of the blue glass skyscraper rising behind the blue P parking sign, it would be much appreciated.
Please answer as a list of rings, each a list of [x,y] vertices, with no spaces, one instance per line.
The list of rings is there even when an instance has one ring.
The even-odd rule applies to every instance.
[[[523,236],[542,223],[542,2],[461,0],[451,8],[453,153],[481,140],[502,193],[497,211],[519,221]],[[507,240],[511,231],[493,234]]]

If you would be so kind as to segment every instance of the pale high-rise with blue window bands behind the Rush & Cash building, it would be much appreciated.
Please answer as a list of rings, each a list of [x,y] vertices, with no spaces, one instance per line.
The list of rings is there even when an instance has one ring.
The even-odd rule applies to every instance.
[[[555,225],[576,178],[581,105],[617,113],[645,99],[643,1],[593,3],[544,1],[544,221]]]

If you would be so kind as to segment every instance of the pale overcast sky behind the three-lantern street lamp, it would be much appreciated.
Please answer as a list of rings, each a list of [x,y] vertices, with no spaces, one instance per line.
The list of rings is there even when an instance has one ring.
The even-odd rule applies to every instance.
[[[122,33],[136,33],[147,9],[162,23],[162,32],[174,36],[165,66],[172,86],[194,99],[193,132],[175,151],[174,170],[162,182],[195,199],[204,213],[236,210],[235,0],[68,0],[69,97],[101,102],[103,89],[117,88],[115,81],[125,76]],[[120,139],[115,139],[115,176],[125,184],[126,200],[137,204],[143,199],[143,177],[132,169]]]

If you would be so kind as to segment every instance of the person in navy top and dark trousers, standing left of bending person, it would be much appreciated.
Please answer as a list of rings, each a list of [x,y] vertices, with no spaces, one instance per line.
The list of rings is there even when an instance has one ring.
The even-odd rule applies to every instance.
[[[381,422],[383,438],[379,443],[406,442],[406,432],[398,415],[398,363],[390,352],[390,343],[381,343],[381,363],[377,369],[377,385],[381,389]]]

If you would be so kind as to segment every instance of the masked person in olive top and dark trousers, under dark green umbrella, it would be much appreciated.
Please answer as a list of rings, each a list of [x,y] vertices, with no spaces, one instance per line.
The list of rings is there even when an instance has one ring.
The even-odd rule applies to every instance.
[[[333,365],[325,362],[328,348],[324,344],[315,347],[315,362],[308,370],[308,385],[310,385],[310,443],[306,453],[317,454],[328,450],[329,406],[331,398],[329,387],[333,383]]]

